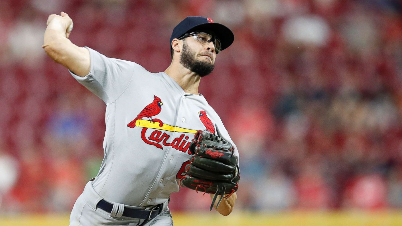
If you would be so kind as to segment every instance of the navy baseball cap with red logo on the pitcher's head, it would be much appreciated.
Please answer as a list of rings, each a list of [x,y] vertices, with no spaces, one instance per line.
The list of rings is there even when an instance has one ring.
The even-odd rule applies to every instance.
[[[209,17],[187,16],[183,21],[174,27],[170,36],[170,45],[173,39],[178,39],[186,33],[195,31],[212,31],[221,41],[221,51],[232,45],[234,41],[233,32],[225,25],[215,23]]]

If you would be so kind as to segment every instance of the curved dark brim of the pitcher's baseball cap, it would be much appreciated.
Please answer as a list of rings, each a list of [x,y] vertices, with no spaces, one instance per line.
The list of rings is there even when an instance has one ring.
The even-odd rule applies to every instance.
[[[192,31],[212,31],[221,41],[221,51],[232,45],[234,41],[234,34],[233,32],[223,24],[219,23],[204,23],[192,27],[186,33]]]

